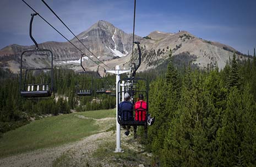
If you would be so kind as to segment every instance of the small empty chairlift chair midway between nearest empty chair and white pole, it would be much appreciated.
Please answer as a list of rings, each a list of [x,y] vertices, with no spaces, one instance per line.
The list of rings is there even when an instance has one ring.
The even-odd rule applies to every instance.
[[[80,65],[83,68],[83,72],[80,72],[80,80],[76,85],[78,96],[91,96],[92,95],[92,72],[85,71],[82,65],[83,55],[81,54]]]

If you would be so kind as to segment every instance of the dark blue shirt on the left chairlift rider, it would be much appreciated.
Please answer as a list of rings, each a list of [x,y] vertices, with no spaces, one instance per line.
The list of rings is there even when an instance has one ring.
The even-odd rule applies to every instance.
[[[119,103],[118,115],[123,121],[133,120],[133,103],[129,101]]]

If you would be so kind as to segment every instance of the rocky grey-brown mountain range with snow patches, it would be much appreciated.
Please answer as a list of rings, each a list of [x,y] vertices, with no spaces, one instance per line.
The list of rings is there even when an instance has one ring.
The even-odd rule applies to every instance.
[[[77,37],[98,59],[111,68],[116,65],[129,68],[130,62],[134,62],[137,59],[138,49],[135,45],[134,56],[132,56],[132,34],[120,30],[110,22],[100,20],[88,30],[78,34]],[[71,41],[91,59],[98,61],[76,38],[71,39]],[[173,56],[186,54],[193,57],[193,64],[201,68],[208,66],[223,68],[228,58],[233,55],[233,52],[241,55],[238,56],[240,59],[243,58],[241,53],[228,45],[206,41],[195,37],[187,31],[179,31],[177,33],[154,31],[143,38],[135,36],[135,41],[140,42],[143,53],[139,71],[160,65],[167,59],[170,49]],[[22,51],[32,48],[35,48],[35,45],[21,46],[12,44],[1,49],[0,67],[18,72],[20,54]],[[39,48],[52,50],[56,66],[66,66],[74,70],[81,70],[79,65],[81,53],[69,42],[45,42],[39,44]],[[28,61],[34,62],[26,65],[41,66],[42,61],[36,60],[38,59],[36,55],[31,54],[29,56],[30,59]],[[83,65],[90,70],[97,68],[97,65],[88,60],[87,57],[84,57]]]

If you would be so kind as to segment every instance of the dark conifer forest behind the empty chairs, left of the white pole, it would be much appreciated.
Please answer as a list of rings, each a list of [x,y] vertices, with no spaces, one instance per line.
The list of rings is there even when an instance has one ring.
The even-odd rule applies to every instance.
[[[40,73],[45,75],[47,73]],[[93,74],[94,78],[96,74]],[[9,71],[0,69],[0,133],[18,128],[29,123],[32,119],[57,114],[70,113],[70,109],[77,111],[89,111],[109,109],[115,107],[115,97],[97,95],[87,97],[75,96],[77,85],[83,80],[91,80],[90,76],[81,78],[80,74],[68,69],[55,69],[55,92],[58,98],[50,100],[25,100],[19,94],[19,76]],[[108,77],[112,82],[113,77]],[[35,80],[35,78],[30,78]],[[82,81],[83,81],[82,80]],[[94,85],[105,82],[104,79],[94,79]]]

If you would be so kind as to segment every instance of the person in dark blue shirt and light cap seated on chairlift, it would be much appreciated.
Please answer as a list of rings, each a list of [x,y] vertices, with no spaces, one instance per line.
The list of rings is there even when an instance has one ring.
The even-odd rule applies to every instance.
[[[124,101],[119,103],[119,113],[118,116],[121,118],[122,121],[133,121],[133,103],[130,101],[130,95],[128,93],[124,94]],[[129,135],[130,125],[123,125],[126,132],[124,133],[126,136]]]

